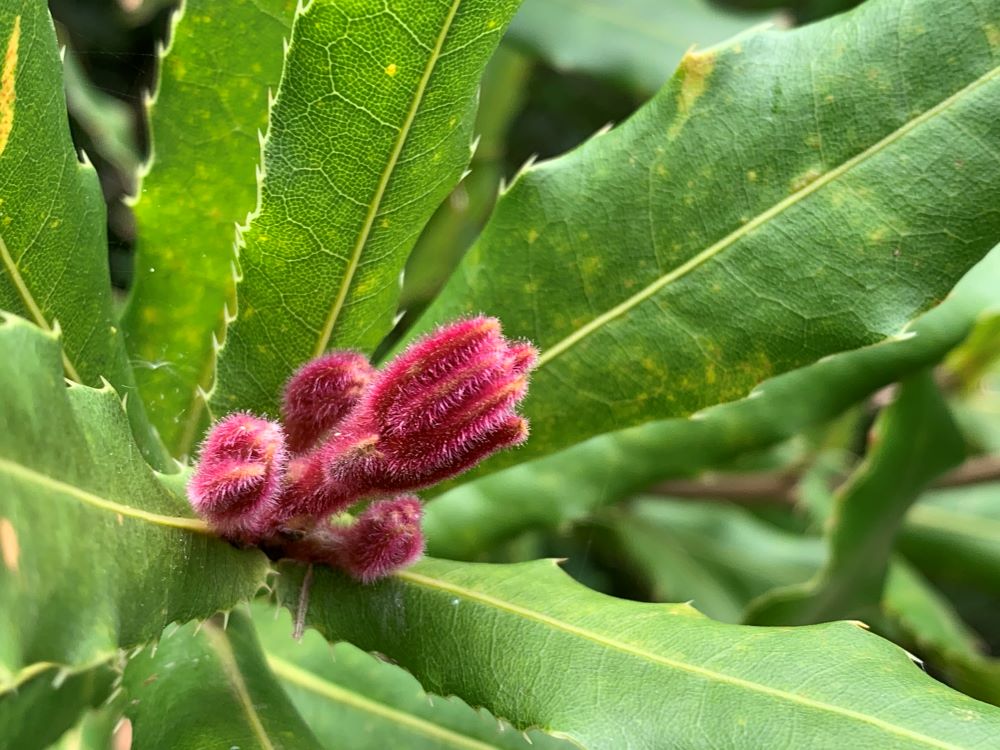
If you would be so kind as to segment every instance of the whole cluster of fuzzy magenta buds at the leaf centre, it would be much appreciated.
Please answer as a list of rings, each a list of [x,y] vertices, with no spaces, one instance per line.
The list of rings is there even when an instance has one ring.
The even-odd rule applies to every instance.
[[[191,504],[233,542],[383,578],[423,553],[413,491],[527,438],[515,408],[536,358],[486,317],[440,328],[381,370],[326,354],[288,381],[280,424],[242,412],[216,423]]]

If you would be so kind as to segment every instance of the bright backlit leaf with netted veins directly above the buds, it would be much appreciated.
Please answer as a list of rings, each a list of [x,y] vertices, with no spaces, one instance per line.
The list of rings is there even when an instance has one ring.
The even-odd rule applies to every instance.
[[[314,0],[298,15],[214,411],[275,414],[304,360],[388,333],[406,257],[469,163],[479,76],[517,4]]]

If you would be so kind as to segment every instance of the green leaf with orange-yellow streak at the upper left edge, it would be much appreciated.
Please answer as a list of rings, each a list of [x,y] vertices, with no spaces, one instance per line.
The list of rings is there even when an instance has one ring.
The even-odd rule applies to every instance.
[[[0,55],[0,310],[61,330],[68,378],[125,395],[135,381],[112,313],[104,198],[70,139],[45,3],[0,7]],[[128,406],[139,446],[165,468],[142,402]]]

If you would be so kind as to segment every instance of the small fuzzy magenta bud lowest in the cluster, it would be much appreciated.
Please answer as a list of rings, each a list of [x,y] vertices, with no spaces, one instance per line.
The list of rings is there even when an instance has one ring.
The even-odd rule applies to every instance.
[[[422,514],[420,500],[413,495],[372,503],[339,531],[334,562],[363,583],[412,565],[424,553]]]

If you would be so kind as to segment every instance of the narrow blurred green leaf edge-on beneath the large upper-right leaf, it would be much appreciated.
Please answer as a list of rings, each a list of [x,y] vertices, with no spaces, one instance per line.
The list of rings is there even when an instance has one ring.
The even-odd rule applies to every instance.
[[[878,388],[940,361],[984,311],[997,308],[998,285],[1000,247],[908,327],[912,336],[780,375],[750,398],[707,409],[698,419],[602,435],[453,489],[427,505],[429,550],[468,559],[526,529],[578,520],[655,482],[697,473],[833,419]]]

